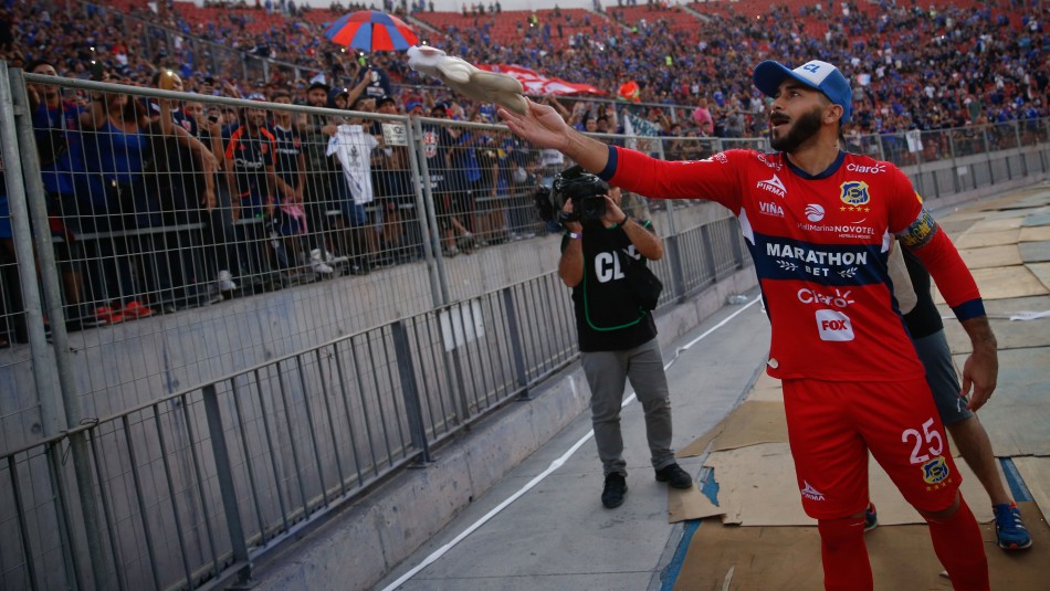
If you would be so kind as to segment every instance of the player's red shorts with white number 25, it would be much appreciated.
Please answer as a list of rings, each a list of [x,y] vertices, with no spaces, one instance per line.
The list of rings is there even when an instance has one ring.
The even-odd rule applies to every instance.
[[[838,519],[868,506],[868,452],[918,510],[948,508],[962,478],[925,378],[902,382],[784,380],[802,508]]]

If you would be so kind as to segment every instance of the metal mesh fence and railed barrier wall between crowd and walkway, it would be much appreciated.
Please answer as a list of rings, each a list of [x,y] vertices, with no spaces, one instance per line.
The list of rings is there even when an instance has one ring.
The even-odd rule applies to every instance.
[[[105,177],[106,169],[71,170],[72,199],[49,201],[42,146],[64,141],[65,154],[75,154],[92,149],[87,146],[94,141],[97,151],[98,146],[112,145],[116,134],[108,131],[109,139],[101,138],[104,134],[98,131],[85,139],[70,128],[52,134],[53,126],[32,120],[23,76],[12,72],[9,86],[7,73],[0,68],[0,104],[14,107],[0,112],[3,162],[21,163],[3,169],[14,230],[13,249],[7,252],[17,254],[17,261],[35,256],[38,262],[4,262],[0,268],[19,285],[0,291],[4,305],[10,305],[12,293],[21,298],[21,309],[4,308],[0,318],[8,326],[21,324],[22,335],[13,329],[3,334],[14,341],[22,336],[29,341],[0,349],[4,437],[0,539],[6,540],[0,545],[0,587],[174,589],[230,577],[245,579],[251,561],[281,540],[405,466],[426,462],[434,445],[501,404],[519,399],[576,358],[575,320],[566,291],[550,271],[557,241],[543,238],[545,228],[534,221],[531,204],[535,183],[567,162],[555,163],[552,155],[501,135],[505,131],[500,127],[209,99],[206,105],[219,113],[225,107],[241,109],[234,113],[241,120],[277,119],[282,113],[306,118],[304,125],[311,116],[324,117],[318,123],[325,124],[330,123],[327,117],[355,117],[376,122],[380,128],[384,123],[395,126],[387,129],[391,138],[403,134],[403,146],[397,139],[388,146],[392,152],[403,148],[403,158],[388,168],[380,163],[378,170],[400,173],[408,184],[385,192],[386,186],[376,183],[369,211],[386,213],[392,204],[403,212],[410,220],[400,222],[403,240],[375,251],[365,250],[367,241],[355,245],[353,236],[340,242],[339,234],[355,230],[353,220],[309,232],[319,234],[318,244],[325,250],[330,246],[358,261],[400,252],[414,254],[416,260],[354,276],[348,258],[342,263],[347,275],[329,277],[337,270],[317,273],[308,258],[298,265],[282,262],[281,247],[292,246],[282,244],[288,236],[280,231],[253,235],[234,230],[216,240],[208,236],[210,222],[166,220],[166,213],[207,211],[190,207],[195,201],[186,197],[181,210],[154,210],[150,199],[161,194],[159,189],[137,193],[133,188],[133,198],[126,202],[120,201],[122,189],[106,193],[115,201],[101,201],[105,210],[95,209],[91,200],[95,193],[77,190],[90,187],[93,175]],[[65,88],[71,98],[84,91],[101,93],[85,101],[106,104],[127,103],[128,97],[198,98],[45,76],[27,75],[24,81],[41,86],[40,95],[46,94],[46,87]],[[902,165],[924,197],[935,200],[1002,179],[1046,173],[1050,156],[1046,122],[1031,136],[1015,127],[1016,143],[1001,131],[937,131],[931,138],[946,138],[949,149],[956,141],[953,133],[972,136],[967,149],[986,148],[977,154],[951,151],[951,158],[939,160],[932,158],[937,151],[927,156],[926,148],[917,146],[912,146],[915,151],[888,150],[883,138],[864,145],[883,150],[880,155],[914,158],[913,166]],[[168,133],[141,135],[175,151],[174,144],[166,144]],[[231,136],[223,141],[229,147],[232,134],[224,135]],[[46,136],[61,141],[48,144]],[[476,161],[476,151],[491,145],[483,141],[486,136],[500,146],[490,169],[494,186],[484,181],[482,167],[470,163],[468,154],[475,150]],[[462,141],[450,145],[449,138]],[[641,141],[642,149],[669,157],[702,157],[745,145],[712,138]],[[327,147],[327,140],[307,137],[300,145],[308,150]],[[126,147],[122,149],[128,154]],[[524,155],[521,161],[510,156],[516,151]],[[381,161],[389,155],[377,158]],[[211,172],[207,167],[195,168],[201,163],[192,158],[177,161],[192,171]],[[223,165],[229,163],[234,167],[229,172],[242,172],[237,158],[223,159]],[[244,163],[240,166],[249,168]],[[342,211],[354,203],[354,196],[349,194],[349,202],[340,199],[339,177],[327,168],[306,166],[300,184],[305,203],[321,204],[323,218],[335,210],[339,211],[333,218],[356,215],[353,210]],[[479,178],[468,184],[464,178],[475,166]],[[524,182],[516,182],[518,168]],[[167,179],[164,187],[169,191],[189,186],[172,182],[171,171],[140,175]],[[161,180],[151,182],[160,188]],[[221,193],[223,175],[212,180]],[[237,187],[237,182],[234,178],[231,184]],[[267,184],[272,186],[280,187]],[[214,225],[234,218],[237,205],[228,198],[219,197],[214,210],[224,218]],[[490,204],[479,205],[486,198]],[[441,203],[434,207],[437,201]],[[111,210],[111,204],[127,209]],[[242,201],[240,209],[252,205]],[[654,265],[665,284],[661,306],[749,264],[734,218],[697,215],[705,208],[691,202],[637,199],[631,207],[650,212],[668,245],[668,255]],[[160,214],[160,223],[150,222],[154,213]],[[54,223],[49,223],[49,214]],[[482,225],[485,222],[479,218],[484,215],[491,225]],[[263,222],[252,222],[254,217],[240,215],[239,221],[272,223],[267,219],[264,214]],[[453,219],[464,228],[477,224],[471,240],[463,240],[466,236]],[[72,232],[56,225],[69,220],[95,225]],[[114,221],[123,225],[98,229],[102,222]],[[30,228],[38,229],[32,242]],[[39,230],[56,228],[61,231]],[[380,229],[386,230],[379,222],[368,228],[378,235],[382,235]],[[500,232],[506,232],[503,238],[511,241],[522,238],[511,232],[538,235],[486,245],[473,256],[450,256],[453,247],[479,249],[476,236],[501,238]],[[166,234],[175,238],[156,238]],[[293,238],[306,240],[302,234]],[[291,281],[284,285],[281,279],[274,293],[216,304],[201,297],[187,304],[189,309],[165,310],[166,302],[180,302],[177,295],[168,295],[177,287],[187,294],[214,292],[214,275],[222,268],[214,266],[213,255],[201,251],[223,245],[234,252],[227,260],[232,268],[225,271],[242,285],[274,274],[291,277],[298,267],[315,279],[317,275],[324,278],[298,285]],[[308,251],[304,247],[303,252]],[[169,270],[190,270],[206,279],[190,282],[192,276],[178,275],[181,284],[164,286],[156,281],[157,267],[141,262],[175,255],[188,262]],[[106,284],[104,273],[60,281],[71,271],[91,276],[92,265],[133,261],[126,284],[119,278]],[[329,266],[340,264],[333,263]],[[73,294],[71,287],[83,292]],[[76,325],[84,317],[76,313],[85,306],[98,308],[112,302],[99,299],[111,288],[159,309],[136,321],[93,328]],[[91,295],[97,293],[103,296]],[[83,297],[72,302],[73,296]],[[147,298],[157,298],[160,305]]]

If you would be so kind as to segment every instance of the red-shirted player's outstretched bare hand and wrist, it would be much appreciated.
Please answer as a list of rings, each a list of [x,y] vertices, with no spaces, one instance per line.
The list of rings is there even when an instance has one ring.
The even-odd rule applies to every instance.
[[[525,115],[500,107],[500,117],[515,135],[539,148],[553,148],[575,160],[590,172],[601,172],[609,161],[609,147],[569,127],[561,115],[548,105],[526,98]]]

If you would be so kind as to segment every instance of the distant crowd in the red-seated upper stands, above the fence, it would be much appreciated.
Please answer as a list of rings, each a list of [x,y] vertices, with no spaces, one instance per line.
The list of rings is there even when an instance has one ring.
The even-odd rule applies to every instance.
[[[233,80],[244,95],[280,85],[298,91],[293,99],[304,99],[307,75],[294,80],[291,73],[274,72],[277,80],[239,80],[239,64],[208,71],[204,56],[195,55],[180,41],[171,55],[168,48],[140,51],[143,35],[153,33],[122,19],[112,6],[109,10],[88,6],[85,19],[81,11],[75,18],[66,15],[63,3],[52,10],[39,2],[6,4],[4,34],[11,41],[3,51],[15,63],[19,57],[23,63],[48,59],[60,75],[86,77],[87,61],[102,59],[140,83],[157,67],[168,66],[176,67],[191,89],[211,76]],[[363,4],[308,10],[294,0],[265,0],[248,3],[255,8],[222,10],[161,2],[159,13],[146,9],[145,2],[105,4],[126,4],[130,14],[177,32],[181,35],[177,40],[213,41],[324,72],[333,86],[349,86],[358,70],[353,53],[340,52],[323,31],[344,13],[366,8]],[[241,3],[209,6],[225,4]],[[840,65],[858,91],[854,127],[860,133],[995,123],[1047,113],[1043,22],[1050,8],[1036,0],[935,2],[937,8],[911,0],[830,2],[823,10],[801,2],[763,9],[748,8],[748,1],[692,4],[705,14],[703,19],[676,6],[666,8],[665,2],[648,2],[648,8],[610,6],[602,12],[555,8],[532,13],[505,12],[494,2],[463,3],[462,15],[434,13],[422,2],[381,4],[378,8],[402,15],[411,9],[423,23],[451,22],[435,20],[439,14],[456,17],[458,25],[417,30],[422,39],[433,38],[433,44],[473,63],[516,64],[591,84],[609,96],[633,82],[644,103],[697,105],[706,98],[714,115],[713,133],[723,136],[756,135],[764,127],[763,117],[756,117],[763,101],[745,83],[754,64],[765,57],[801,63],[819,55]],[[197,15],[206,10],[211,18]],[[512,23],[514,31],[508,32]],[[407,71],[402,55],[377,53],[364,59],[397,86],[432,83]],[[862,77],[864,82],[859,82]],[[409,91],[401,103],[423,101],[417,95],[426,94]],[[732,116],[735,113],[744,125]],[[683,130],[690,127],[699,126],[683,122]]]

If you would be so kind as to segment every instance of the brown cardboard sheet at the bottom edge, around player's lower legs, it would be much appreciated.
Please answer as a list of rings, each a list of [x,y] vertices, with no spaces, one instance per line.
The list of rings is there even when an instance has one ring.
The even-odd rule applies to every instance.
[[[1007,553],[996,548],[995,528],[981,526],[993,589],[1047,588],[1050,528],[1035,504],[1020,504],[1035,546]],[[876,591],[949,590],[926,526],[880,526],[864,541]],[[732,571],[732,574],[729,574]],[[816,527],[723,527],[706,519],[690,542],[674,591],[795,591],[822,589],[820,539]]]

